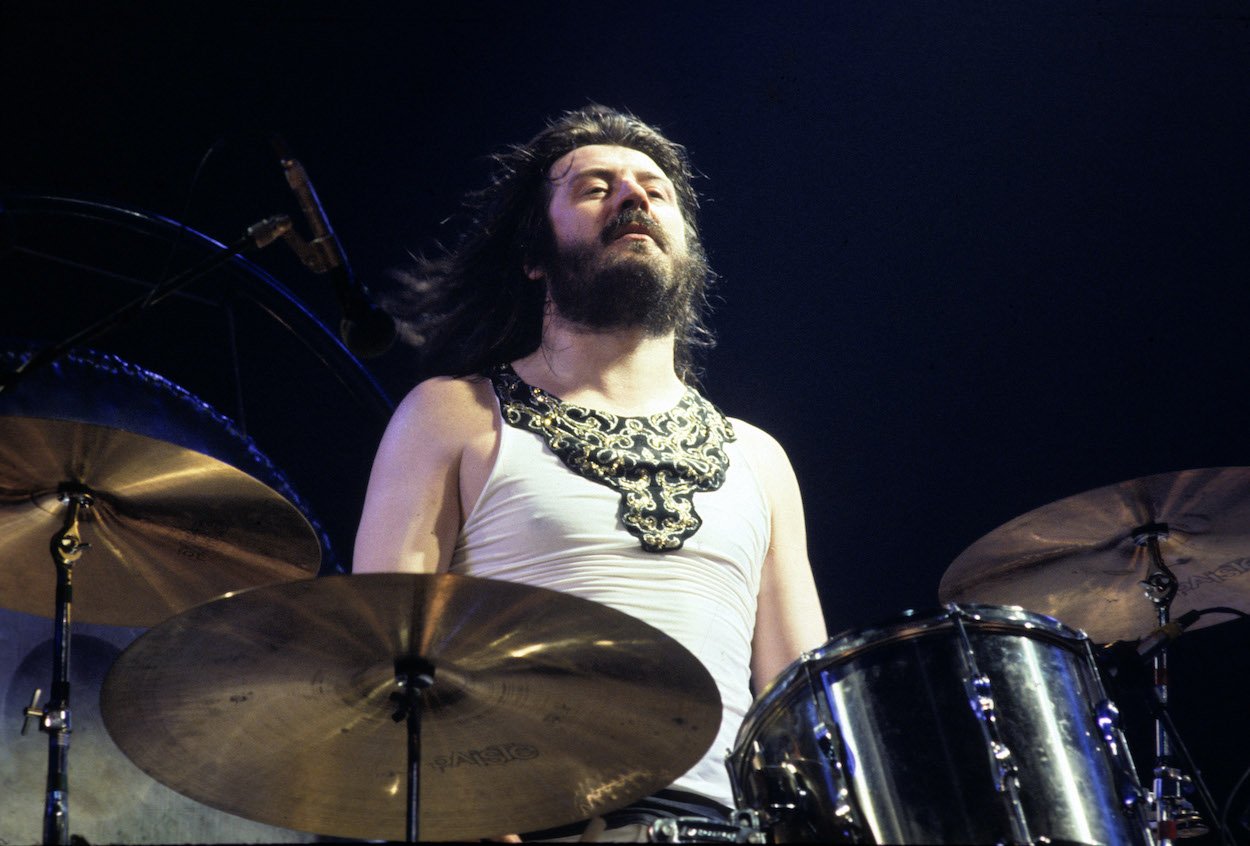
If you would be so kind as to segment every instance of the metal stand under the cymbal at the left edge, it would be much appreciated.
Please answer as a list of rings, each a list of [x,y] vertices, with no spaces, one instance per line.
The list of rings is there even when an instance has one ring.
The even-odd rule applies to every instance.
[[[91,491],[81,485],[62,484],[58,491],[66,505],[65,522],[52,536],[52,562],[56,565],[56,617],[52,624],[52,686],[48,704],[38,707],[39,691],[26,720],[39,720],[39,730],[48,734],[48,794],[44,804],[44,844],[62,846],[70,842],[70,606],[74,596],[74,562],[90,544],[79,534],[79,516],[95,502]],[[26,726],[22,724],[22,731]]]

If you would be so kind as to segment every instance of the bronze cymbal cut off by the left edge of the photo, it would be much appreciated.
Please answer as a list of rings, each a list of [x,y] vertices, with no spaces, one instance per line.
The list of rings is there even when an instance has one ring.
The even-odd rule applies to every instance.
[[[0,416],[0,605],[52,616],[49,551],[72,482],[74,620],[152,626],[226,591],[316,575],[321,545],[288,500],[241,470],[121,429]]]

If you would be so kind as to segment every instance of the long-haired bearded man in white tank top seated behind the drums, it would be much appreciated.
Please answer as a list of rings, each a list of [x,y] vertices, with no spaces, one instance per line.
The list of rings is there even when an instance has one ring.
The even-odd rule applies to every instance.
[[[708,667],[724,719],[702,760],[655,796],[534,839],[645,840],[659,817],[728,819],[724,757],[750,685],[826,634],[785,452],[698,389],[711,271],[686,151],[589,106],[496,164],[459,246],[414,271],[435,376],[382,437],[354,572],[566,591]]]

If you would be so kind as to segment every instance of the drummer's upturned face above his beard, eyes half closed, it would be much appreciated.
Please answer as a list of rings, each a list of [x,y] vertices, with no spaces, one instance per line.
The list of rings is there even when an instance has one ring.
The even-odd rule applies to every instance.
[[[578,147],[551,170],[548,215],[558,251],[602,247],[606,255],[686,250],[676,191],[645,152],[609,144]],[[632,219],[632,222],[620,222]],[[615,221],[615,222],[614,222]]]

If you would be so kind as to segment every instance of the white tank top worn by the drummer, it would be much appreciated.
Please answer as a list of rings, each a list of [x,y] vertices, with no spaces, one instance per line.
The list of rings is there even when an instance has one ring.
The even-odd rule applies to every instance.
[[[751,637],[770,521],[745,451],[736,441],[725,451],[721,487],[694,496],[702,526],[681,549],[646,552],[618,516],[620,492],[575,474],[540,435],[505,421],[450,569],[594,600],[686,647],[716,681],[724,715],[702,760],[671,786],[734,807],[725,755],[751,705]]]

